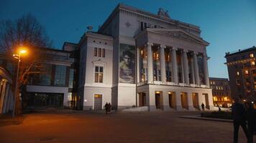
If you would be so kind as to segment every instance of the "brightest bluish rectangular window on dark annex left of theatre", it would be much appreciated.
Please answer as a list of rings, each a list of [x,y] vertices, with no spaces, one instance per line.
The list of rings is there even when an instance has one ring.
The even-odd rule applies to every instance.
[[[66,74],[66,66],[55,66],[55,79],[54,85],[55,86],[65,86],[65,74]]]

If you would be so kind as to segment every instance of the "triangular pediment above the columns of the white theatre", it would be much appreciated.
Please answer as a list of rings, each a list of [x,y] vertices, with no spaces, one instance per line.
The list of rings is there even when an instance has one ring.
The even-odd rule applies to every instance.
[[[201,37],[198,37],[196,35],[190,34],[187,31],[184,31],[183,29],[147,29],[147,31],[151,31],[157,34],[164,34],[166,36],[171,36],[176,39],[183,39],[186,41],[193,41],[197,43],[201,43],[204,45],[209,45],[207,41],[204,41]]]

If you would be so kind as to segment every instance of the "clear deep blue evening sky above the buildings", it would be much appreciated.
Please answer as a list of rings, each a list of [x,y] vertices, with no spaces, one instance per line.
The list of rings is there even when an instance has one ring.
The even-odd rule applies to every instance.
[[[60,49],[64,41],[78,42],[86,26],[98,30],[120,2],[152,13],[163,7],[172,19],[200,26],[201,36],[210,43],[210,77],[228,77],[225,52],[256,46],[255,0],[0,0],[0,19],[31,13]]]

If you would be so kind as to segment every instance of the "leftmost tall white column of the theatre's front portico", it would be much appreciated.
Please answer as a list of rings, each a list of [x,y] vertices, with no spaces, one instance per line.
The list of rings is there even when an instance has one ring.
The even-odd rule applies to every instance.
[[[153,59],[152,59],[152,44],[147,43],[147,83],[153,82]]]

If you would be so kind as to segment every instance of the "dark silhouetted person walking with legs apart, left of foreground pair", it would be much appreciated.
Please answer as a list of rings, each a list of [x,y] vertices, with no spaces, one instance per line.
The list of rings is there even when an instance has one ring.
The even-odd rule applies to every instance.
[[[247,127],[246,127],[246,110],[242,103],[240,103],[239,97],[234,99],[232,105],[233,125],[234,125],[234,143],[238,142],[238,131],[241,126],[247,139]]]

